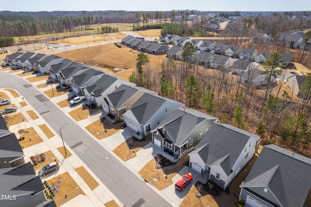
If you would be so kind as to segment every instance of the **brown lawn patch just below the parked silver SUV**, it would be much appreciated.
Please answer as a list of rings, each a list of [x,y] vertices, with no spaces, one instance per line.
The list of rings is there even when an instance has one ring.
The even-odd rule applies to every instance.
[[[58,180],[61,180],[62,182],[58,183]],[[83,190],[79,188],[77,183],[72,179],[72,177],[69,175],[69,173],[63,173],[58,176],[55,176],[54,178],[48,180],[49,184],[52,185],[60,185],[60,189],[58,191],[58,195],[54,197],[54,201],[56,206],[61,206],[67,201],[71,200],[72,198],[76,197],[77,195],[85,193]],[[65,193],[67,193],[67,197],[65,198]]]

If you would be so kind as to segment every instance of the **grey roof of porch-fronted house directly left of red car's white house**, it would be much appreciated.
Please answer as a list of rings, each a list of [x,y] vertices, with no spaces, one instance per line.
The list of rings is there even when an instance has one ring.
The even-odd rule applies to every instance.
[[[217,120],[193,109],[179,108],[167,115],[159,125],[165,129],[175,145],[182,146],[193,129],[207,119],[212,122]]]

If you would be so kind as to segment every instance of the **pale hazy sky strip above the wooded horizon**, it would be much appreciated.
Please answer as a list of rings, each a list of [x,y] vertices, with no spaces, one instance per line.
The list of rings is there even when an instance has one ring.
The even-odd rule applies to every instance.
[[[4,1],[4,0],[0,0]],[[311,11],[310,0],[14,0],[0,11]]]

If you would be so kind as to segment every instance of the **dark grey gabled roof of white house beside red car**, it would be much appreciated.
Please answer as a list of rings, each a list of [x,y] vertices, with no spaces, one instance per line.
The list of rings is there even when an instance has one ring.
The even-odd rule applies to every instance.
[[[209,166],[220,164],[225,173],[230,175],[233,165],[250,137],[259,138],[229,124],[213,123],[190,155],[198,153],[206,164]]]

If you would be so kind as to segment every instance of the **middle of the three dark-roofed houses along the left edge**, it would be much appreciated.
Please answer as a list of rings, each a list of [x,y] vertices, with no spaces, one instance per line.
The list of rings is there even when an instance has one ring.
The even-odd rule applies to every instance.
[[[24,153],[16,135],[13,133],[0,137],[0,169],[18,167],[23,164],[25,164]]]

